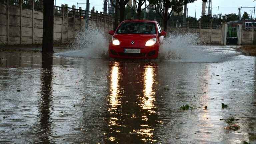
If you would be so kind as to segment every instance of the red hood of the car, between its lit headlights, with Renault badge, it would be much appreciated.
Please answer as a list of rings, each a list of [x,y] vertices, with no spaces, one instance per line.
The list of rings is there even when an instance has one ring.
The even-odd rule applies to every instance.
[[[114,37],[120,41],[121,47],[143,48],[148,40],[156,37],[156,34],[115,34]]]

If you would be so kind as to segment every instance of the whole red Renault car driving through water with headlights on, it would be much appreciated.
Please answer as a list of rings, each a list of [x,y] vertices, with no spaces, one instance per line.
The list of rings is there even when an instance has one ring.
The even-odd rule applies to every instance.
[[[159,46],[166,32],[157,21],[125,20],[113,35],[109,44],[111,58],[157,58]]]

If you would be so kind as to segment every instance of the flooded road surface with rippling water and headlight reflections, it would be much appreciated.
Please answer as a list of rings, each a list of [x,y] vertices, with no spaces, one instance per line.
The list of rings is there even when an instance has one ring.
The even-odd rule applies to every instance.
[[[0,143],[255,144],[255,57],[202,48],[221,60],[0,52]]]

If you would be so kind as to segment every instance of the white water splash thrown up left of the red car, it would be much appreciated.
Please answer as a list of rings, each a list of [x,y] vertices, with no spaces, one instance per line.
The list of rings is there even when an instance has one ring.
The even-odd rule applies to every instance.
[[[108,57],[108,40],[103,30],[90,28],[77,32],[70,43],[70,50],[56,53],[57,56],[104,58]]]

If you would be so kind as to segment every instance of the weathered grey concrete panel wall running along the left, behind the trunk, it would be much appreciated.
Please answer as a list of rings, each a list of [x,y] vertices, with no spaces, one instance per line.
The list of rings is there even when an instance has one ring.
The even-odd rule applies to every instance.
[[[112,17],[91,13],[94,17],[90,17],[90,28],[97,27],[106,33],[113,29]],[[84,29],[85,22],[86,19],[70,16],[63,8],[62,14],[54,16],[54,43],[72,41],[75,33]],[[0,45],[41,44],[42,37],[43,11],[0,3]]]

